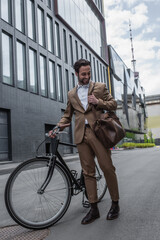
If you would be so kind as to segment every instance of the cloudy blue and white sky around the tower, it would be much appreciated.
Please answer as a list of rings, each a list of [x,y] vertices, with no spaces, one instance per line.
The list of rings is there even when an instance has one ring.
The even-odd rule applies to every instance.
[[[160,94],[160,0],[104,0],[107,43],[128,68],[134,59],[145,95]]]

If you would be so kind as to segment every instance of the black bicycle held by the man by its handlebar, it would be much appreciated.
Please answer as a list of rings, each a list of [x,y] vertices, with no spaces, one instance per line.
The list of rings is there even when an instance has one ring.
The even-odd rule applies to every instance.
[[[69,124],[63,125],[63,127]],[[62,127],[62,126],[61,126]],[[29,229],[44,229],[58,222],[67,211],[71,197],[83,193],[82,205],[89,207],[83,171],[80,178],[70,170],[58,152],[58,145],[76,147],[59,140],[60,128],[53,128],[50,156],[38,156],[22,162],[8,178],[5,187],[5,204],[12,219]],[[104,197],[107,185],[102,171],[96,164],[98,201]]]

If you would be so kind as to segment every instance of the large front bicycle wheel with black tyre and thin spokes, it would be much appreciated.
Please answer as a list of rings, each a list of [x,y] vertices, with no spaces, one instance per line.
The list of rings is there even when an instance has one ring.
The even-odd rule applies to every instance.
[[[20,164],[7,181],[7,210],[23,227],[49,227],[60,220],[69,207],[71,183],[64,167],[58,162],[44,193],[38,193],[48,173],[48,162],[47,159],[28,160]]]

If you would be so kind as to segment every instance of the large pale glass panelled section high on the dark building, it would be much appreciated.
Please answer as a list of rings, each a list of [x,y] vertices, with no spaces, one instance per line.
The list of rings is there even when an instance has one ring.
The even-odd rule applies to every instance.
[[[58,14],[101,55],[101,22],[96,14],[92,14],[93,10],[88,2],[58,0]]]

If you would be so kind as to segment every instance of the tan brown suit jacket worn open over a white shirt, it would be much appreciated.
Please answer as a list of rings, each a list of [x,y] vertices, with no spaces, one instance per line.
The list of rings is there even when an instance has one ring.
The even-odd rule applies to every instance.
[[[93,90],[94,87],[94,90]],[[92,92],[93,91],[93,92]],[[79,144],[83,140],[85,131],[85,119],[88,120],[90,127],[92,128],[94,121],[100,116],[103,110],[113,111],[117,108],[117,103],[108,92],[106,85],[104,83],[96,82],[95,86],[93,82],[90,81],[88,95],[94,94],[99,100],[96,105],[96,116],[92,111],[92,104],[88,104],[86,111],[84,110],[81,101],[77,95],[77,86],[68,92],[68,102],[67,107],[62,116],[60,124],[70,123],[72,120],[72,115],[75,113],[75,129],[74,129],[74,140],[76,144]]]

